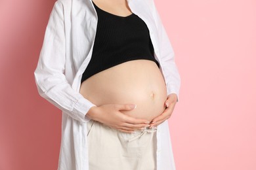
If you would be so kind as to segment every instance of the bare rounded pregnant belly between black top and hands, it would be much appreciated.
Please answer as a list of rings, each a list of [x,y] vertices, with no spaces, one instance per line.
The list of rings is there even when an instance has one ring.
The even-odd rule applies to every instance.
[[[120,110],[134,118],[152,121],[165,109],[165,80],[154,61],[137,59],[121,63],[83,81],[79,93],[96,106],[135,104],[136,109]]]

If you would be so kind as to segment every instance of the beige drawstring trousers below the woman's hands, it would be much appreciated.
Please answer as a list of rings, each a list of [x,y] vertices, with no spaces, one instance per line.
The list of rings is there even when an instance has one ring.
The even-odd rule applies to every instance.
[[[156,127],[124,133],[87,123],[89,170],[156,170]]]

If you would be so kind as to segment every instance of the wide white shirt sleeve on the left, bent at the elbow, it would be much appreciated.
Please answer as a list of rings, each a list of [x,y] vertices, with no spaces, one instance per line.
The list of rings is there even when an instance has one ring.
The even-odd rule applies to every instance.
[[[62,3],[56,1],[49,17],[39,61],[34,71],[35,84],[39,95],[58,109],[80,123],[89,122],[90,119],[85,115],[95,105],[85,99],[81,93],[76,92],[66,79],[64,75],[65,46],[64,10]]]

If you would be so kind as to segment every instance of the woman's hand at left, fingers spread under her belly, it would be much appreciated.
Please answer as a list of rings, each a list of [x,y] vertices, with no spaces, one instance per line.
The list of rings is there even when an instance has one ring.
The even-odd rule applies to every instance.
[[[86,116],[106,126],[112,127],[126,133],[133,133],[134,130],[148,127],[150,122],[144,119],[137,119],[127,116],[120,110],[133,110],[136,105],[130,104],[106,104],[89,109]]]

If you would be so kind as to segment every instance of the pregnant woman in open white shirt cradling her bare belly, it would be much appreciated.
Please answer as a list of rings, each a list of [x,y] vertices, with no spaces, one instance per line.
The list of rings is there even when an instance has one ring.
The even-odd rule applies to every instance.
[[[58,170],[175,170],[181,79],[153,0],[58,0],[35,82],[62,110]]]

